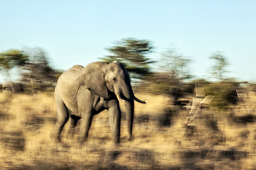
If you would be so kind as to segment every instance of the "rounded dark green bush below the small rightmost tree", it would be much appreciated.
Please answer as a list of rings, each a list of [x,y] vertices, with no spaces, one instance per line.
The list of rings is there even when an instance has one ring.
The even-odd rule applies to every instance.
[[[231,105],[235,105],[238,101],[236,89],[238,82],[235,81],[219,81],[206,84],[206,95],[214,96],[211,106],[225,109]]]

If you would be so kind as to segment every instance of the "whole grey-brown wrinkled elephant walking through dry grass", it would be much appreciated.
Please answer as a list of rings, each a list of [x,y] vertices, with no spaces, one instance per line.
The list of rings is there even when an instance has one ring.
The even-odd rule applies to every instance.
[[[132,140],[134,96],[129,74],[119,62],[94,62],[82,67],[75,65],[64,72],[55,87],[57,122],[52,137],[60,142],[60,133],[70,118],[71,130],[80,119],[79,142],[85,142],[93,115],[108,110],[112,142],[119,143],[121,113],[119,102],[124,103],[127,118],[128,140]]]

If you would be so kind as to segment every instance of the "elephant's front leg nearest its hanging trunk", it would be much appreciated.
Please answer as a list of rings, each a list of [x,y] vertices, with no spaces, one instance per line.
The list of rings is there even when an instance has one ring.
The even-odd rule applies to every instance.
[[[112,132],[112,142],[114,143],[114,145],[117,145],[119,144],[121,121],[119,102],[117,100],[112,100],[108,103],[108,106],[108,111],[110,115],[110,128]]]

